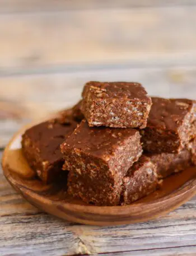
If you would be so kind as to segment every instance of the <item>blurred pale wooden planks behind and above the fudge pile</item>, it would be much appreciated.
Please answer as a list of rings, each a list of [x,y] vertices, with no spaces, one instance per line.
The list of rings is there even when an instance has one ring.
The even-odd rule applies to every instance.
[[[196,96],[194,0],[0,0],[0,147],[88,80]]]

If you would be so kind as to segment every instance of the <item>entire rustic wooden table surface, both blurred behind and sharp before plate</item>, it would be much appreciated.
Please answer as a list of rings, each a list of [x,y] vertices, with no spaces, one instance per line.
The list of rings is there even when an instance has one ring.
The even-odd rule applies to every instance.
[[[142,82],[196,98],[194,0],[0,0],[0,158],[21,125],[73,105],[88,80]],[[64,222],[32,207],[0,169],[0,255],[196,255],[196,198],[119,227]]]

